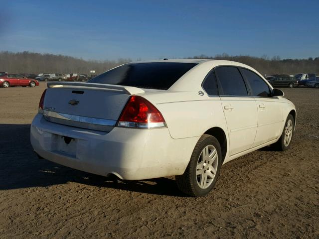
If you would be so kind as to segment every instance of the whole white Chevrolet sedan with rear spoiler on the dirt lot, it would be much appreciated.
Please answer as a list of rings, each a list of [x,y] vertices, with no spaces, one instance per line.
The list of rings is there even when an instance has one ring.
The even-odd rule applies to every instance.
[[[128,63],[88,83],[47,86],[31,124],[40,157],[124,180],[175,175],[192,196],[209,193],[232,159],[288,149],[296,123],[281,90],[232,61]]]

